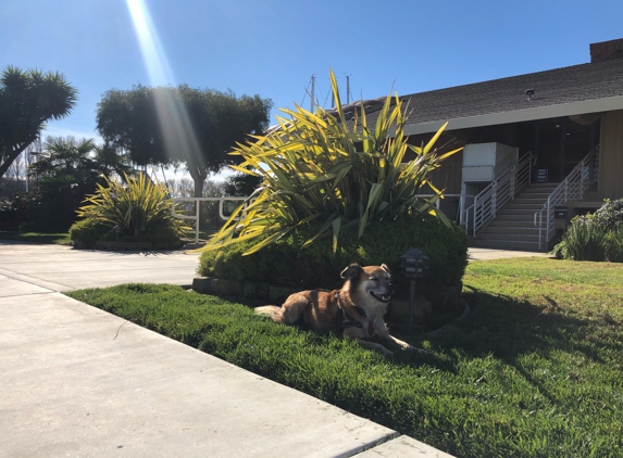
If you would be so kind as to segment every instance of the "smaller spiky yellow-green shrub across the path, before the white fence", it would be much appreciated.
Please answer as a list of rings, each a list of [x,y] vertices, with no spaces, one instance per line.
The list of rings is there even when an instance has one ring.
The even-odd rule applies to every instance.
[[[149,181],[145,175],[125,176],[125,180],[127,187],[108,179],[107,187],[98,185],[96,194],[88,196],[87,205],[78,209],[78,216],[91,221],[77,224],[77,237],[85,232],[88,234],[88,230],[97,232],[99,229],[96,227],[100,225],[108,228],[103,237],[109,240],[116,237],[110,231],[115,226],[122,228],[123,241],[179,240],[189,228],[173,217],[166,187]]]

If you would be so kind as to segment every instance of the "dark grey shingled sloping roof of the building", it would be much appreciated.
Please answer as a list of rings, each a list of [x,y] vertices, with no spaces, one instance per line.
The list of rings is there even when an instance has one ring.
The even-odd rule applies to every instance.
[[[534,90],[532,97],[526,90]],[[407,135],[623,110],[623,59],[402,96]],[[378,99],[377,99],[378,100]],[[376,103],[374,103],[376,102]],[[381,103],[367,104],[369,122]],[[351,104],[349,106],[353,106]]]

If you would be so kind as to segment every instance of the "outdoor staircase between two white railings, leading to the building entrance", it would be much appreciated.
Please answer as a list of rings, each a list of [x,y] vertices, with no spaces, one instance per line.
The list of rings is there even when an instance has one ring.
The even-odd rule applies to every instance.
[[[471,246],[538,251],[539,228],[534,225],[534,214],[543,208],[558,185],[527,185],[476,233]]]

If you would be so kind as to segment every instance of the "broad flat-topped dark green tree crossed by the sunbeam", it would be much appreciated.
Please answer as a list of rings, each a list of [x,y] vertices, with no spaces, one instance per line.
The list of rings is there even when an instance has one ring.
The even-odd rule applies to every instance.
[[[266,129],[271,107],[257,94],[139,85],[107,91],[97,127],[107,144],[126,150],[138,165],[184,163],[200,198],[208,175],[235,163],[227,153]]]

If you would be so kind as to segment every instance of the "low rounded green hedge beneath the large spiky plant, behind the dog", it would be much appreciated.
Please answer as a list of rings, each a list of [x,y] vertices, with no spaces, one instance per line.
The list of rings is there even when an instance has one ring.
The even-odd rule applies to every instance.
[[[353,231],[340,233],[337,254],[329,238],[306,249],[302,243],[315,228],[296,232],[249,256],[251,243],[239,243],[202,253],[198,272],[232,280],[284,283],[301,289],[338,288],[339,272],[351,263],[362,266],[387,264],[397,292],[404,294],[407,280],[400,273],[400,255],[419,249],[429,260],[421,293],[432,300],[436,292],[459,288],[468,265],[468,237],[457,227],[447,227],[432,217],[407,217],[396,222],[371,224],[361,239]],[[253,243],[257,243],[254,241]]]

